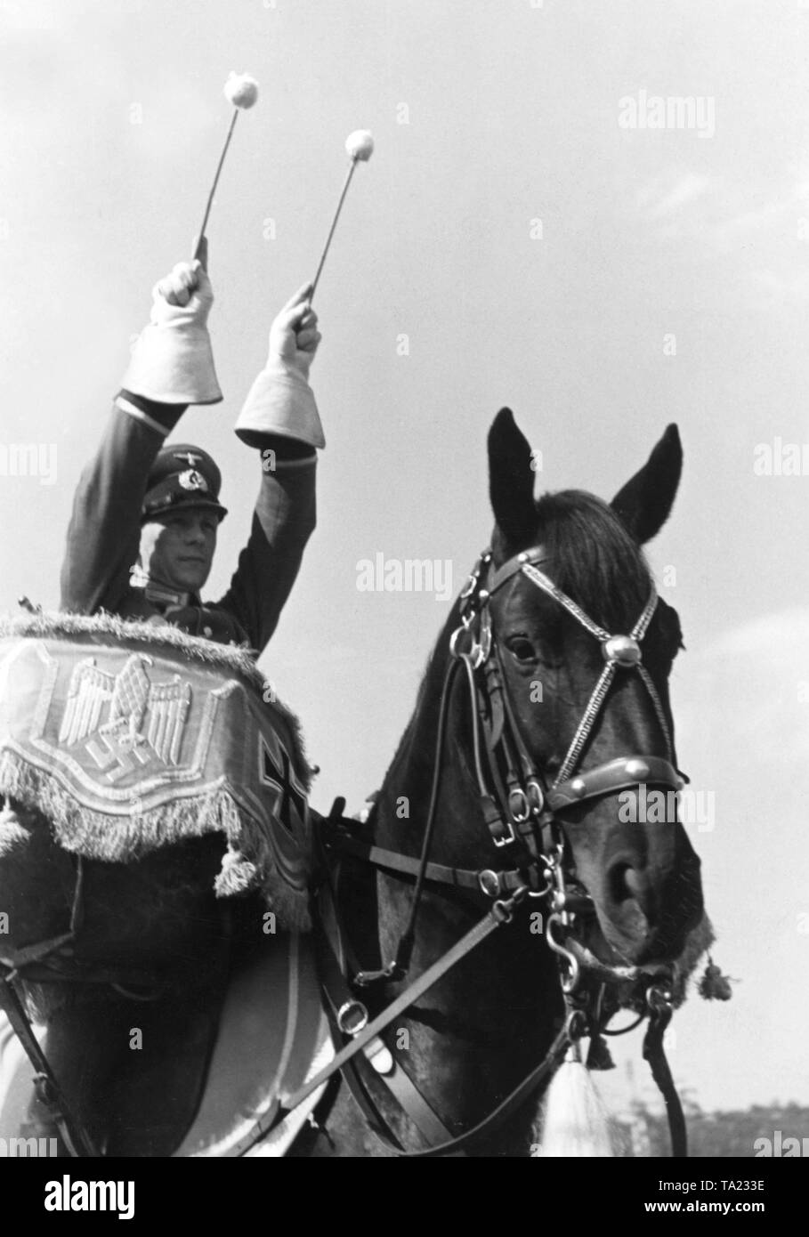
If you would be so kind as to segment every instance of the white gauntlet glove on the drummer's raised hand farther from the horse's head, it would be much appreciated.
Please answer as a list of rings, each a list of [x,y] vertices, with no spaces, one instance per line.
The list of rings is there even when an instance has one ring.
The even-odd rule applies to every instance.
[[[152,289],[150,323],[141,333],[121,386],[157,403],[219,403],[208,314],[214,292],[203,261],[178,262]]]

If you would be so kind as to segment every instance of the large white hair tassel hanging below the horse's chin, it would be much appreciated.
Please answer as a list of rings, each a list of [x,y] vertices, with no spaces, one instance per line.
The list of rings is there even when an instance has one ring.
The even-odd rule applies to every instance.
[[[532,1159],[615,1155],[616,1144],[604,1101],[581,1060],[579,1044],[571,1044],[548,1087],[542,1139]]]

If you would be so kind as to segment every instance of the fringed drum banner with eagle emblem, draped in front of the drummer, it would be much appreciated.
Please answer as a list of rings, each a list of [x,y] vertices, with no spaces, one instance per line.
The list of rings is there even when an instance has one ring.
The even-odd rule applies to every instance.
[[[249,652],[114,616],[0,620],[0,794],[77,855],[127,862],[215,830],[216,893],[308,927],[309,767]]]

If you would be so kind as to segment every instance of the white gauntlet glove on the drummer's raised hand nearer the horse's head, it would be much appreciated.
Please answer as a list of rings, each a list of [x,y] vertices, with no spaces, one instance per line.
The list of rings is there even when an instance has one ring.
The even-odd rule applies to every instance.
[[[262,447],[265,434],[325,447],[309,367],[320,343],[318,315],[309,307],[312,285],[304,283],[278,313],[270,329],[267,364],[252,383],[236,422],[236,434],[249,447]]]

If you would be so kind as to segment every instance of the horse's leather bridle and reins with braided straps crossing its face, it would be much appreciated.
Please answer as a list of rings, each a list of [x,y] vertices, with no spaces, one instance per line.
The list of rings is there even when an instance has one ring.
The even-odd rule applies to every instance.
[[[332,914],[336,920],[336,950],[334,943],[322,951],[320,966],[323,986],[327,996],[327,1011],[330,1013],[333,1032],[336,1037],[350,1037],[350,1042],[338,1053],[335,1060],[322,1070],[315,1079],[296,1092],[287,1103],[291,1111],[317,1086],[325,1081],[338,1068],[341,1068],[354,1097],[360,1103],[375,1133],[388,1149],[400,1155],[447,1155],[463,1153],[465,1147],[489,1133],[501,1123],[524,1098],[536,1090],[539,1081],[568,1053],[571,1059],[580,1059],[579,1040],[586,1033],[593,1040],[601,1033],[620,1034],[637,1025],[647,1014],[647,1030],[643,1054],[652,1065],[656,1081],[663,1091],[672,1129],[673,1154],[684,1155],[685,1131],[679,1098],[673,1086],[670,1071],[663,1054],[663,1033],[673,1013],[670,991],[672,972],[669,967],[632,967],[607,966],[599,962],[574,940],[569,940],[576,917],[593,914],[593,899],[585,891],[571,883],[565,866],[565,844],[559,815],[568,808],[604,794],[614,794],[625,788],[635,788],[641,783],[654,783],[673,790],[682,789],[684,781],[674,766],[674,750],[670,730],[657,688],[642,662],[641,643],[654,615],[658,597],[649,580],[649,596],[643,610],[628,635],[612,635],[594,622],[589,615],[567,594],[564,594],[541,569],[548,555],[542,546],[532,547],[510,558],[500,568],[494,567],[492,553],[484,550],[473,568],[460,594],[460,626],[449,640],[450,658],[448,661],[435,741],[433,766],[433,784],[430,792],[427,823],[419,858],[401,855],[376,845],[360,842],[351,834],[350,824],[335,819],[325,847],[327,870],[339,856],[350,855],[365,860],[374,867],[392,875],[414,877],[414,892],[406,928],[400,938],[393,959],[379,970],[367,971],[355,965],[346,934],[341,929],[336,912],[336,894],[329,882]],[[595,683],[584,713],[570,740],[559,772],[554,781],[548,779],[523,740],[517,716],[511,701],[502,669],[501,651],[494,631],[491,599],[518,575],[524,575],[537,588],[553,597],[563,609],[594,638],[600,642],[605,659],[597,682]],[[499,854],[513,856],[515,867],[496,871],[484,868],[477,871],[448,867],[434,863],[429,858],[435,826],[438,789],[440,784],[445,721],[455,675],[463,670],[470,701],[473,727],[473,769],[477,797],[487,825],[491,841]],[[644,684],[666,742],[667,758],[658,756],[630,755],[614,758],[586,771],[578,771],[579,762],[599,720],[610,687],[621,670],[636,672]],[[338,800],[339,802],[339,800]],[[335,815],[333,809],[333,815]],[[339,814],[336,814],[339,816]],[[367,988],[380,981],[402,981],[409,967],[409,959],[416,938],[418,908],[426,882],[437,888],[454,887],[456,889],[477,889],[491,899],[491,908],[484,920],[468,933],[448,955],[439,959],[414,983],[402,992],[372,1022],[365,1004],[356,999],[356,991]],[[424,1113],[424,1100],[409,1082],[400,1080],[397,1098],[422,1132],[438,1136],[439,1142],[428,1152],[404,1152],[393,1138],[392,1131],[379,1110],[371,1103],[366,1087],[361,1086],[356,1064],[351,1060],[361,1048],[372,1045],[379,1033],[408,1008],[427,988],[454,966],[469,950],[484,940],[500,924],[511,922],[515,908],[524,898],[547,899],[552,910],[547,922],[549,946],[559,957],[560,986],[565,1004],[563,1030],[552,1044],[541,1065],[534,1069],[518,1087],[501,1103],[497,1110],[473,1131],[458,1138],[438,1121],[432,1110]],[[565,939],[560,940],[557,931]],[[325,933],[320,933],[324,938]],[[328,943],[327,943],[328,944]],[[452,955],[452,959],[450,959]],[[341,964],[341,965],[340,965]],[[343,971],[353,971],[350,986]],[[594,1002],[593,993],[586,991],[583,971],[591,971],[597,981],[599,995]],[[621,1003],[638,1008],[640,1018],[621,1032],[606,1030],[614,1011],[602,1013],[602,997],[606,983],[640,985],[642,997],[625,999]],[[339,1038],[335,1039],[339,1043]],[[377,1040],[379,1043],[379,1040]],[[602,1042],[601,1042],[602,1043]],[[393,1066],[402,1074],[398,1066]],[[383,1072],[382,1080],[386,1081]],[[388,1082],[390,1086],[390,1082]],[[442,1136],[445,1136],[442,1142]]]

